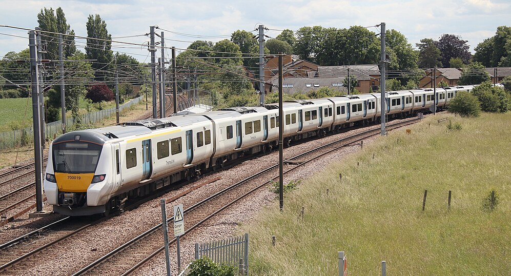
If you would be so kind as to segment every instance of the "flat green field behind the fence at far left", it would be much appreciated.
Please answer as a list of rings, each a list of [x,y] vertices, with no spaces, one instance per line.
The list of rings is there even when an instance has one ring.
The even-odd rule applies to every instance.
[[[0,110],[0,132],[32,125],[32,98],[1,98]]]

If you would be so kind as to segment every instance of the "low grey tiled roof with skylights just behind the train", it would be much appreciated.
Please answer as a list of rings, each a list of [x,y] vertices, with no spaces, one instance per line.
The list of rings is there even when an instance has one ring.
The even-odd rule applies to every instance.
[[[344,87],[340,77],[285,77],[282,78],[282,92],[284,94],[307,94],[321,87],[328,87],[339,94],[347,94],[348,88]],[[272,85],[265,85],[265,92],[278,92],[278,78],[270,81]]]

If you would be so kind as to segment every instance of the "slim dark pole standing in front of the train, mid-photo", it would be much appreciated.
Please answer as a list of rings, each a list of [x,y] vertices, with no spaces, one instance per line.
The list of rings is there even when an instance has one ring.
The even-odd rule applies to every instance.
[[[282,52],[279,53],[279,205],[284,208],[284,108],[282,103]]]

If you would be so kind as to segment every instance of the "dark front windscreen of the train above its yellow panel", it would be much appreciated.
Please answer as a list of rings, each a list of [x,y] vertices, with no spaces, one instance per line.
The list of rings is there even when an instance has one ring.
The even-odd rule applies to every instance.
[[[64,173],[96,171],[103,146],[87,142],[63,142],[53,145],[53,169]]]

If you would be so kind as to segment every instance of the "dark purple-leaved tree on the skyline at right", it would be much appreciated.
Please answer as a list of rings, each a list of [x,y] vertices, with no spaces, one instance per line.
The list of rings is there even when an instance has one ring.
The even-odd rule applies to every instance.
[[[463,63],[467,64],[471,60],[472,54],[468,51],[469,46],[466,43],[467,41],[462,40],[459,35],[442,34],[435,43],[438,49],[440,49],[442,64],[449,64],[452,57],[459,57]]]

